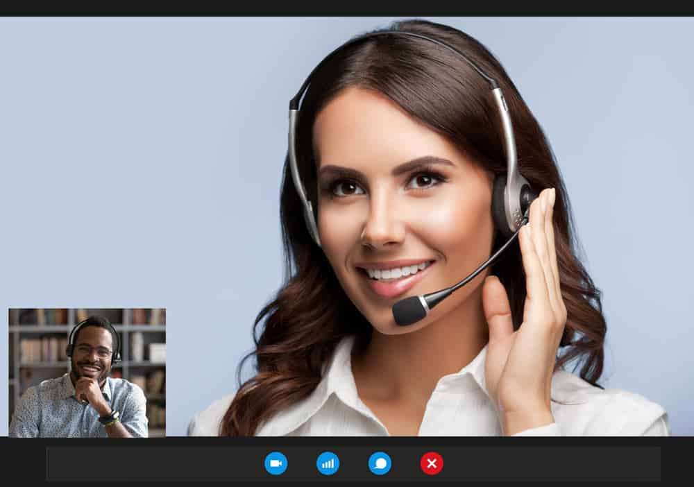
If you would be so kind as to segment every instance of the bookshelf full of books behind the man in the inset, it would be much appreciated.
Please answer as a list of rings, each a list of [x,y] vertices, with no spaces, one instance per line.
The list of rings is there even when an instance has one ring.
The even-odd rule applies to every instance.
[[[118,333],[122,361],[111,377],[139,385],[147,398],[149,436],[166,436],[166,311],[164,309],[10,309],[9,419],[24,391],[69,372],[65,346],[71,330],[91,314]],[[152,354],[152,356],[150,356]]]

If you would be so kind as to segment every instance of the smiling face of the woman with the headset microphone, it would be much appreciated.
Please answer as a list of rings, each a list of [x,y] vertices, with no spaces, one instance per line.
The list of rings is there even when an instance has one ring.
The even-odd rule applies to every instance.
[[[388,135],[373,126],[388,127]],[[364,291],[398,298],[424,278],[434,291],[460,280],[462,271],[472,271],[489,257],[494,233],[489,211],[493,173],[482,170],[446,137],[371,89],[345,89],[325,105],[314,123],[314,146],[320,154],[316,161],[319,186],[327,187],[318,197],[321,242],[341,286],[383,334],[409,334],[425,327],[428,321],[398,326],[392,303]],[[329,178],[323,184],[323,171],[332,167],[328,162],[333,160],[357,168],[355,172],[362,176]],[[354,190],[338,193],[341,185],[352,185]],[[398,270],[415,264],[423,272],[403,277]],[[355,272],[359,268],[383,272],[366,278],[365,273]],[[465,293],[473,289],[459,291],[457,305],[470,302]],[[437,313],[457,323],[484,321],[481,309],[473,317],[450,314],[452,307],[456,303],[448,300]],[[483,330],[481,326],[447,326],[456,333]],[[482,336],[474,341],[460,338],[460,343],[473,348],[486,341]]]

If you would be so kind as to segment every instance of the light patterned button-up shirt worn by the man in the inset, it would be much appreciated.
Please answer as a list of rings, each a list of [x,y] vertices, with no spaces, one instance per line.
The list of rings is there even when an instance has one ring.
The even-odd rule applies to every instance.
[[[133,436],[147,436],[146,398],[139,386],[124,379],[106,378],[101,389],[111,409]],[[26,390],[10,424],[10,438],[105,438],[99,413],[75,398],[69,373],[44,380]]]

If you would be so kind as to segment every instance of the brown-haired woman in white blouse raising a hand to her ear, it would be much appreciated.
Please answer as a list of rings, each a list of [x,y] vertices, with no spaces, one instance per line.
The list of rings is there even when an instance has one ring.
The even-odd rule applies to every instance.
[[[444,42],[498,82],[538,194],[530,223],[493,266],[398,325],[396,302],[450,287],[509,241],[490,210],[509,149],[484,76],[451,49],[411,35],[338,49],[310,77],[296,126],[317,233],[287,163],[287,282],[255,321],[257,374],[189,434],[668,434],[658,404],[598,385],[600,291],[575,257],[550,146],[502,66],[448,26],[386,30]],[[564,370],[573,360],[579,377]]]

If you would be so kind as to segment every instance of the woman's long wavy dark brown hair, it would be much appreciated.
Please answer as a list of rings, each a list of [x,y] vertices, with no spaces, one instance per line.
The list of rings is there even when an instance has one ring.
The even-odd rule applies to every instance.
[[[384,30],[420,33],[446,42],[498,81],[509,106],[521,173],[536,193],[548,187],[557,191],[555,245],[568,320],[556,366],[564,368],[575,359],[577,368],[582,362],[580,377],[600,387],[597,381],[602,374],[607,332],[601,293],[577,257],[579,243],[573,232],[575,225],[566,187],[539,123],[498,60],[473,37],[421,20],[394,22]],[[388,96],[485,169],[506,173],[500,117],[484,79],[459,56],[432,42],[382,35],[342,49],[312,77],[298,119],[297,155],[302,180],[313,202],[318,201],[312,141],[314,119],[346,87],[373,89]],[[221,422],[221,436],[255,434],[262,422],[314,391],[321,381],[323,366],[341,339],[353,335],[355,347],[363,350],[371,338],[371,324],[350,301],[323,251],[310,238],[286,160],[280,221],[285,284],[255,319],[255,350],[239,364],[239,390]],[[493,250],[504,241],[497,232]],[[525,272],[517,240],[492,266],[491,273],[504,284],[514,329],[518,330],[523,321]],[[258,337],[261,323],[264,327]],[[242,366],[250,357],[255,357],[257,373],[241,384]]]

